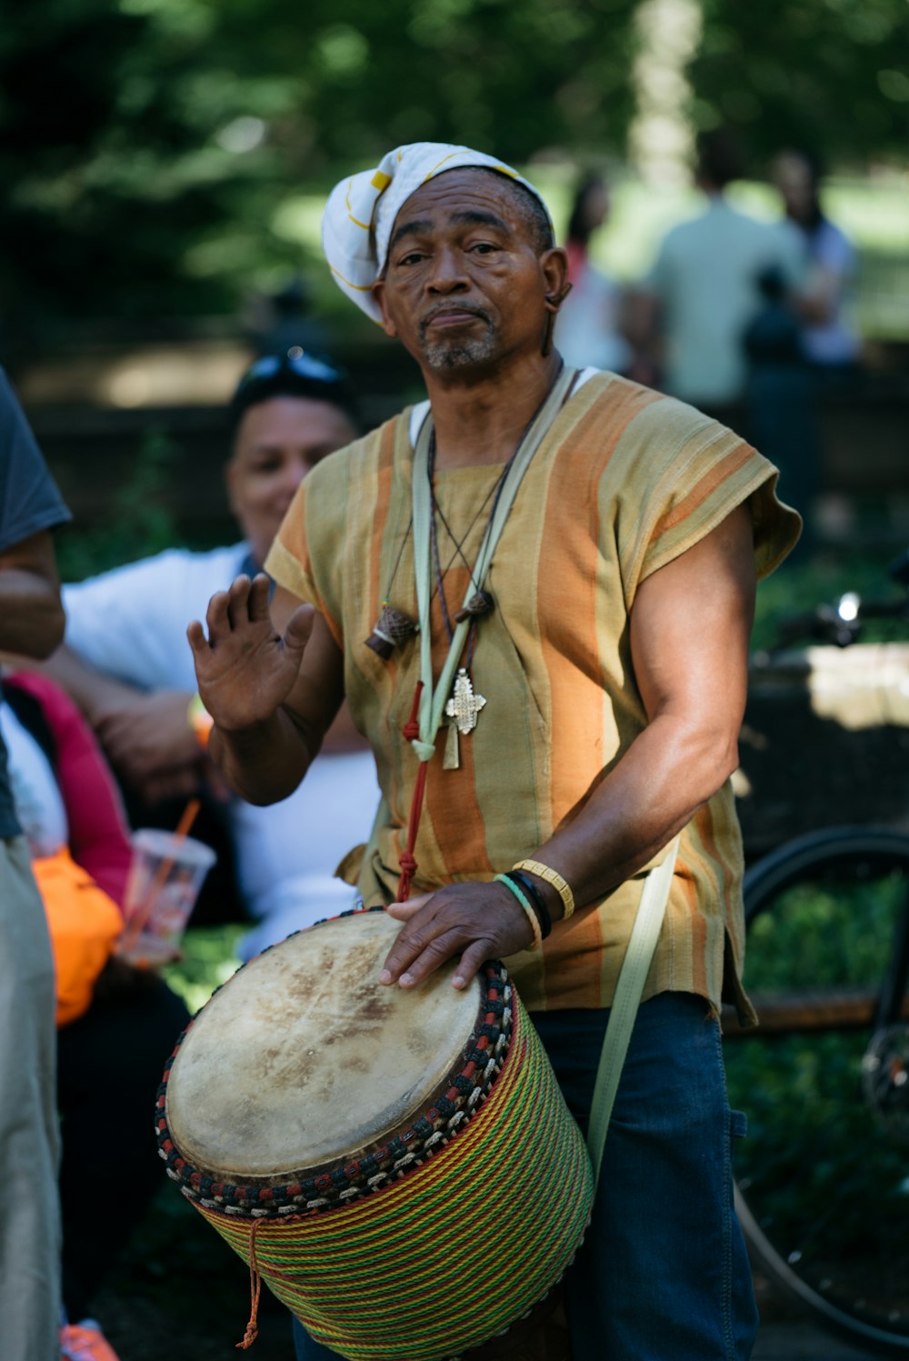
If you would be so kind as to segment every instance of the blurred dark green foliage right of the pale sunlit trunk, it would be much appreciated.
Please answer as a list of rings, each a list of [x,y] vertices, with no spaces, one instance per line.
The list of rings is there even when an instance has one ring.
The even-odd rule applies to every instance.
[[[702,0],[689,67],[698,127],[736,128],[755,158],[807,147],[840,165],[905,166],[905,0]]]

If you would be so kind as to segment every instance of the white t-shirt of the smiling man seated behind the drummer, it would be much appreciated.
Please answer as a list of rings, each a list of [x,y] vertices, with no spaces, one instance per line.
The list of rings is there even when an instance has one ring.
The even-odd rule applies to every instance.
[[[90,577],[63,591],[67,645],[95,667],[143,690],[196,689],[191,619],[239,573],[249,548],[191,553],[170,548]],[[239,891],[263,919],[242,943],[249,958],[291,931],[352,905],[354,890],[333,878],[343,856],[369,840],[378,806],[369,751],[323,754],[301,787],[282,803],[227,808]]]

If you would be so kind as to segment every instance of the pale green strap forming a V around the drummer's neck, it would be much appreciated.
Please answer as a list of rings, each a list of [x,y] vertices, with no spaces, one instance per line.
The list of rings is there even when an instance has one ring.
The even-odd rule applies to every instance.
[[[467,604],[475,591],[480,591],[483,587],[486,573],[490,562],[493,561],[493,554],[495,553],[495,546],[498,544],[509,512],[514,504],[514,497],[517,495],[521,479],[529,467],[531,459],[546,438],[550,426],[562,410],[565,399],[572,391],[576,377],[576,369],[562,369],[548,397],[538,411],[531,429],[521,441],[521,446],[514,456],[514,461],[505,476],[505,485],[498,498],[495,514],[486,527],[480,551],[476,557],[474,572],[471,573],[471,581],[468,583],[467,592],[464,595],[464,604]],[[416,576],[416,610],[419,614],[420,627],[420,680],[423,682],[423,693],[420,695],[419,706],[419,738],[416,738],[411,744],[420,761],[429,761],[435,751],[435,735],[442,721],[445,702],[452,693],[454,668],[457,667],[459,659],[464,652],[467,633],[471,626],[469,619],[464,619],[456,626],[445,664],[442,666],[438,680],[433,686],[433,636],[430,629],[430,602],[433,597],[430,524],[433,516],[433,501],[429,485],[429,448],[431,433],[433,415],[430,412],[423,421],[423,426],[416,441],[416,449],[414,450],[412,486],[414,573]]]

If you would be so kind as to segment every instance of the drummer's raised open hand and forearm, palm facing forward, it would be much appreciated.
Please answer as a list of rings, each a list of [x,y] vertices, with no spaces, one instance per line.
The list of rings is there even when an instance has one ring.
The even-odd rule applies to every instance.
[[[321,615],[268,578],[238,577],[188,629],[210,753],[249,803],[294,792],[344,698],[343,656]]]

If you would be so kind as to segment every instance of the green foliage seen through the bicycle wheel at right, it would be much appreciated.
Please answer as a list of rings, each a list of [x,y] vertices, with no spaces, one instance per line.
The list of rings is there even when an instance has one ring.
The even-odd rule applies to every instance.
[[[781,890],[751,923],[746,983],[759,999],[876,996],[908,883],[842,864]],[[784,1259],[831,1300],[868,1309],[905,1292],[909,1184],[898,1131],[863,1097],[870,1029],[758,1029],[725,1047],[729,1100],[748,1115],[736,1172]],[[861,1282],[861,1288],[856,1282]],[[850,1296],[846,1292],[855,1292]]]

